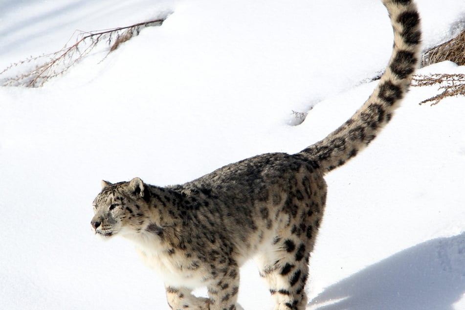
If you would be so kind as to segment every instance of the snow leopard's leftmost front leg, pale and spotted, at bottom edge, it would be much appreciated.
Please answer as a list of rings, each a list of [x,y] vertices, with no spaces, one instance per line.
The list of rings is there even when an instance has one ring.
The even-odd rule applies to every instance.
[[[166,299],[173,310],[210,310],[210,300],[194,296],[189,288],[167,286]]]

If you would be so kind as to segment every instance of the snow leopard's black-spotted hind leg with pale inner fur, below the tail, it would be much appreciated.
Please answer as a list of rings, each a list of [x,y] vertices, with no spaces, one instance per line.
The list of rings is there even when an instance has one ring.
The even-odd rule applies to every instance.
[[[265,279],[275,300],[274,310],[305,310],[307,294],[305,285],[309,276],[310,252],[326,204],[326,183],[315,177],[303,178],[301,186],[289,195],[284,205],[292,206],[293,212],[284,211],[279,218],[280,226],[275,236],[255,257],[260,276]]]

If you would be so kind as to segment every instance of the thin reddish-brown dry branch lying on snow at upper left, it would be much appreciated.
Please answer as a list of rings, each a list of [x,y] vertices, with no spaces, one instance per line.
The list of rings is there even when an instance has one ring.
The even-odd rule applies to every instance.
[[[43,86],[46,81],[63,74],[71,66],[74,66],[83,57],[87,56],[100,42],[106,41],[107,44],[111,46],[109,51],[111,52],[118,48],[120,44],[137,36],[143,28],[159,26],[164,20],[165,19],[156,19],[148,22],[135,23],[125,27],[81,32],[78,34],[76,42],[71,46],[65,45],[57,52],[37,57],[31,56],[26,60],[6,67],[0,72],[0,75],[8,72],[13,67],[25,66],[29,63],[38,63],[33,69],[29,69],[25,73],[0,80],[1,85],[25,87]]]

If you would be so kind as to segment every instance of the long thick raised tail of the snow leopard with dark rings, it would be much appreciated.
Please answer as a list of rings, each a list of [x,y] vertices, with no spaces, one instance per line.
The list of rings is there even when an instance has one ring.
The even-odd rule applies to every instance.
[[[378,86],[355,114],[323,140],[302,150],[325,172],[342,166],[386,125],[409,88],[420,58],[420,16],[411,0],[383,0],[394,29],[394,47]]]

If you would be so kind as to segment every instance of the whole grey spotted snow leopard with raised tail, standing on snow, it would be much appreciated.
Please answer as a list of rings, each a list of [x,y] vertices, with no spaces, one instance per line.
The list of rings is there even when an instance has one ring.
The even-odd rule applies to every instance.
[[[411,0],[383,0],[394,29],[389,63],[368,100],[335,131],[299,153],[253,156],[182,185],[134,177],[102,181],[93,232],[131,240],[165,283],[174,310],[238,310],[239,268],[258,267],[274,310],[304,310],[309,258],[325,209],[324,176],[387,124],[418,66],[420,16]],[[206,287],[208,298],[192,291]]]

